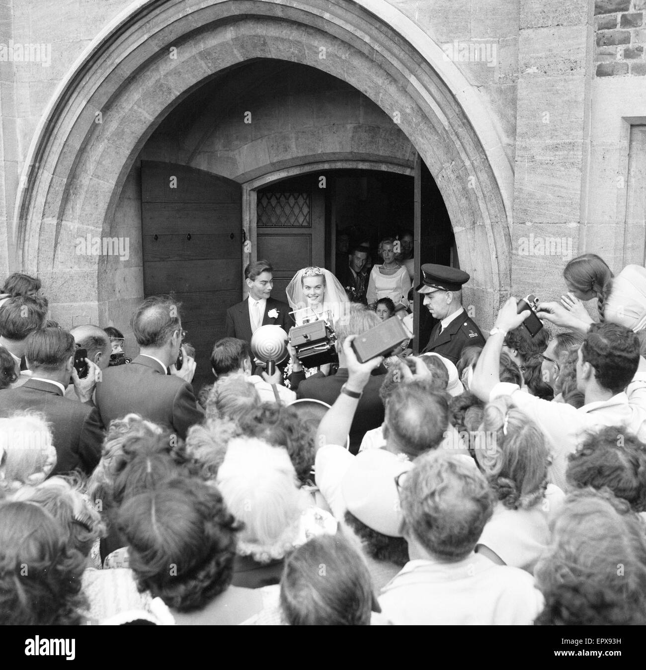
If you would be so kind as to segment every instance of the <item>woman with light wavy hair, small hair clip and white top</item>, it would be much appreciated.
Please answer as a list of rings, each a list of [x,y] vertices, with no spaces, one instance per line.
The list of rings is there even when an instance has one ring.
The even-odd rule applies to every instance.
[[[532,572],[550,541],[550,518],[564,498],[558,486],[547,484],[550,452],[545,438],[506,396],[484,408],[480,436],[476,462],[497,503],[476,551]]]

